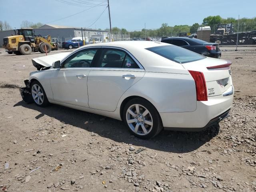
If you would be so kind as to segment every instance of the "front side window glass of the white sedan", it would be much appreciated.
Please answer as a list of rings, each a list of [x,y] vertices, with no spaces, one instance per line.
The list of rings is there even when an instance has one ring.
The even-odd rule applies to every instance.
[[[84,49],[72,54],[62,64],[62,68],[91,67],[92,60],[96,55],[97,48]]]

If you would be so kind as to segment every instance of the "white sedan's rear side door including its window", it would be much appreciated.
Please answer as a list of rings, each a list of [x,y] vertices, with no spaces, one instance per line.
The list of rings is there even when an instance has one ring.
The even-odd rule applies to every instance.
[[[121,96],[145,74],[144,68],[126,50],[101,48],[88,76],[89,107],[114,111]]]

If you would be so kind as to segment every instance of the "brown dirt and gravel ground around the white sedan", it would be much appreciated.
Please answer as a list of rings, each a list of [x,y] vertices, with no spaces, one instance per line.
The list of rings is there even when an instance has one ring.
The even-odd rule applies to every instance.
[[[36,70],[31,58],[44,54],[0,49],[0,191],[256,191],[256,48],[221,49],[233,63],[230,116],[202,132],[150,140],[118,120],[25,104],[18,86]]]

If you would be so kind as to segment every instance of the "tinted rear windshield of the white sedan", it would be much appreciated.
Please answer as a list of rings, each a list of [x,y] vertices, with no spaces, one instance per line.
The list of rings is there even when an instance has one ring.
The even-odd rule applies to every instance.
[[[162,57],[165,57],[180,64],[198,61],[206,58],[205,56],[175,45],[150,47],[146,48],[146,50],[152,51],[153,53],[156,53]]]

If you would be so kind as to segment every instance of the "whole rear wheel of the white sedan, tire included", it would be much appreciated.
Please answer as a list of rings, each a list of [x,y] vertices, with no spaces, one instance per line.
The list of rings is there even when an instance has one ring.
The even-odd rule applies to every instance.
[[[139,108],[139,114],[136,108]],[[132,110],[135,116],[128,112],[130,110]],[[148,112],[146,112],[146,110]],[[142,139],[152,138],[163,129],[162,120],[156,108],[150,102],[142,98],[134,98],[128,101],[124,106],[123,120],[128,130],[134,136]],[[130,123],[128,123],[129,120]],[[144,126],[144,130],[142,126]]]

